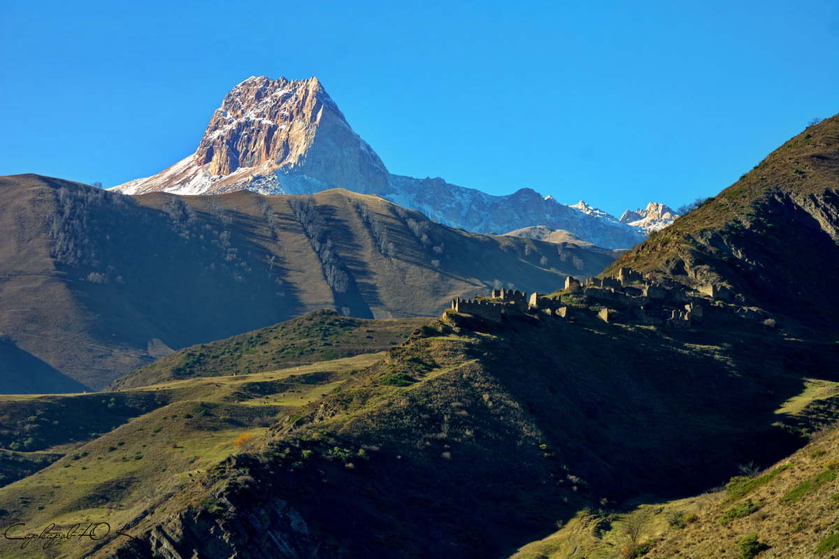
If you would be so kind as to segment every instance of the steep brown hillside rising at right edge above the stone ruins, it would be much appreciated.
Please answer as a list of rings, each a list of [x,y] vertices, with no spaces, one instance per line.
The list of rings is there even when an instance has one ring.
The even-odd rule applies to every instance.
[[[808,127],[607,270],[628,266],[732,287],[809,327],[836,329],[839,116]]]

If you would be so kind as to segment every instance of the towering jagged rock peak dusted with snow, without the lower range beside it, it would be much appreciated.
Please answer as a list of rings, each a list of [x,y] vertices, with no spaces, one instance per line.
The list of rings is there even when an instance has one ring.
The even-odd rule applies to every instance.
[[[352,132],[320,81],[266,77],[248,78],[225,96],[193,155],[153,177],[115,189],[125,194],[160,190],[221,194],[243,188],[273,190],[266,194],[309,194],[322,190],[284,189],[287,181],[278,178],[278,173],[279,177],[305,175],[315,185],[363,194],[388,190],[382,160]]]

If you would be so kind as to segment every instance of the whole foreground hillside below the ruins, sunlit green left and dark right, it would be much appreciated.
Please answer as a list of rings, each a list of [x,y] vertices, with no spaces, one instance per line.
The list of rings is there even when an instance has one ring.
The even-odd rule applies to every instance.
[[[839,354],[825,349],[747,321],[450,314],[385,354],[208,378],[199,367],[112,393],[159,404],[9,485],[0,508],[137,538],[69,556],[270,556],[268,533],[299,555],[502,556],[586,508],[698,492],[793,452],[797,433],[835,419]],[[234,447],[245,432],[261,437]]]

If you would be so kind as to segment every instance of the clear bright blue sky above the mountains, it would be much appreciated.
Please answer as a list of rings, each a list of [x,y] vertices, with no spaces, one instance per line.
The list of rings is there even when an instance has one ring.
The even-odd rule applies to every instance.
[[[619,214],[839,111],[839,3],[0,0],[0,174],[113,186],[233,85],[317,76],[392,173]]]

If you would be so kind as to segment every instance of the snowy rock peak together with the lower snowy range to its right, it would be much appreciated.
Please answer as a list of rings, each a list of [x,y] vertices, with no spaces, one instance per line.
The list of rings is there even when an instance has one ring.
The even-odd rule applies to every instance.
[[[124,194],[314,194],[339,187],[377,194],[443,225],[504,233],[532,225],[568,230],[583,241],[628,248],[641,226],[580,202],[560,204],[533,189],[492,196],[437,179],[388,173],[347,123],[320,81],[251,77],[225,96],[195,153],[152,177],[113,187]]]

